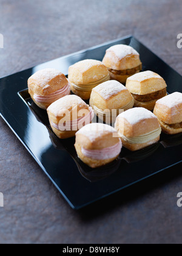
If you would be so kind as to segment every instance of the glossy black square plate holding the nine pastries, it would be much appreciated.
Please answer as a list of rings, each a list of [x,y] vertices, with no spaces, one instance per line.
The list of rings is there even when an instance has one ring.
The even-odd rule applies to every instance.
[[[160,143],[138,152],[123,149],[115,162],[91,169],[75,152],[75,138],[59,140],[52,132],[47,113],[30,99],[27,79],[42,68],[68,68],[83,59],[102,60],[106,49],[114,44],[129,44],[140,52],[143,70],[160,74],[167,82],[168,93],[182,92],[182,77],[157,55],[129,36],[52,60],[34,68],[0,79],[0,112],[25,148],[52,180],[73,208],[81,208],[133,183],[182,162],[182,135],[162,135]]]

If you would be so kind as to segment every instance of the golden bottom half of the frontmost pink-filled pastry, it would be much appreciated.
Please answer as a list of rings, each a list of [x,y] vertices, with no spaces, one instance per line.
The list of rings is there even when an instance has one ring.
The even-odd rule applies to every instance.
[[[84,162],[86,163],[86,165],[89,165],[91,168],[98,168],[100,166],[103,166],[103,165],[107,165],[107,163],[110,163],[112,162],[113,160],[115,160],[119,155],[117,155],[116,157],[114,158],[110,158],[110,159],[106,159],[106,160],[94,160],[92,158],[88,158],[86,157],[82,151],[81,151],[81,145],[80,144],[77,144],[75,143],[75,149],[76,149],[76,152],[78,154],[78,157]]]

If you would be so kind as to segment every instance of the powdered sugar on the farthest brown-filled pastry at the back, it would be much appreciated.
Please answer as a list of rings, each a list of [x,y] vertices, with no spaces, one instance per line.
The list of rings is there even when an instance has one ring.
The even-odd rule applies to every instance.
[[[136,52],[135,49],[133,49],[131,46],[129,45],[125,45],[125,44],[116,44],[112,47],[110,47],[109,49],[107,49],[107,53],[109,52],[113,52],[116,57],[118,57],[118,59],[122,60],[124,57],[126,57],[127,55],[139,55],[138,52]]]

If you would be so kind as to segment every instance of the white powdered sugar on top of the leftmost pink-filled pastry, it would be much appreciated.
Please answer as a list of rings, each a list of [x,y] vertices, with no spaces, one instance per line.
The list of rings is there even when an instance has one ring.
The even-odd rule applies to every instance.
[[[35,74],[33,74],[30,79],[35,79],[38,80],[40,83],[39,85],[41,87],[47,88],[49,87],[49,82],[52,80],[54,77],[61,75],[62,73],[54,68],[46,68],[39,70]]]

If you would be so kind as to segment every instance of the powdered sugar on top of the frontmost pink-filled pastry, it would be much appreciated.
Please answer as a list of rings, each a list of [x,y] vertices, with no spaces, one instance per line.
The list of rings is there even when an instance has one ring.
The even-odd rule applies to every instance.
[[[95,141],[97,138],[104,135],[104,133],[116,133],[117,131],[107,124],[93,123],[87,124],[81,128],[76,134],[83,134],[89,138],[90,141]]]

